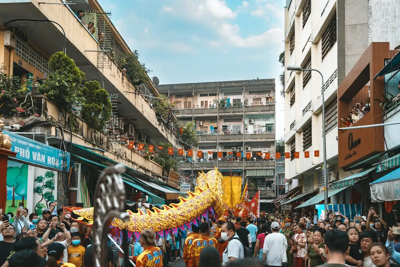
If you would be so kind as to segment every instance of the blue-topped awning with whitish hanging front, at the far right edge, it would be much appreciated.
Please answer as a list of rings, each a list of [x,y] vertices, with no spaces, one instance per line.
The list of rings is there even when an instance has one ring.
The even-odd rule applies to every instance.
[[[400,200],[400,168],[370,183],[372,202]]]

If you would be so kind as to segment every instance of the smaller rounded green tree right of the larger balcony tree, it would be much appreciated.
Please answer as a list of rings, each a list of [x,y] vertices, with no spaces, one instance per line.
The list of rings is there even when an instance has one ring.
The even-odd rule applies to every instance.
[[[106,122],[110,120],[112,105],[108,92],[101,88],[97,81],[86,82],[82,88],[82,118],[90,128],[103,130]]]

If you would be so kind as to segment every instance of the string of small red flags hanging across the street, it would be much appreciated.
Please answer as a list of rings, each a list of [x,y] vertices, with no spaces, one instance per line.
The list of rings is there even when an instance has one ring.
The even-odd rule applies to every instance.
[[[128,143],[128,148],[129,149],[133,149],[134,148],[134,142],[133,141],[130,141]],[[160,149],[160,150],[164,149],[164,147],[161,147],[161,146],[158,146],[157,148]],[[144,149],[144,144],[140,143],[138,145],[138,150],[142,151],[143,149]],[[149,152],[154,152],[154,145],[149,145],[148,151]],[[310,152],[312,152],[312,151],[304,151],[304,158],[309,158],[310,157]],[[212,153],[214,153],[214,151],[207,151],[207,153],[209,155],[212,155]],[[284,153],[285,159],[290,159],[290,153],[291,152],[285,152]],[[228,156],[230,156],[230,155],[233,156],[234,155],[233,152],[226,152],[226,154]],[[261,153],[261,152],[257,152],[256,154],[258,156],[260,156],[260,157],[264,154],[265,155],[265,159],[271,159],[271,156],[273,154],[275,154],[275,159],[281,159],[281,154],[282,153],[279,153],[279,152],[276,152],[276,153],[269,153],[269,152]],[[168,155],[174,155],[174,148],[168,147]],[[184,149],[178,149],[178,155],[182,155],[183,156],[184,155]],[[252,158],[252,153],[251,152],[246,152],[245,155],[246,155],[246,159],[251,159]],[[188,149],[187,150],[187,156],[188,157],[193,157],[193,150],[192,149]],[[320,156],[320,151],[319,150],[314,150],[314,157],[319,157],[319,156]],[[203,157],[203,151],[202,150],[198,150],[197,151],[197,157],[198,158],[202,158]],[[217,152],[217,157],[223,157],[222,156],[222,151],[218,151]],[[236,157],[242,157],[242,152],[236,152]],[[300,152],[294,152],[294,158],[295,159],[300,159]]]

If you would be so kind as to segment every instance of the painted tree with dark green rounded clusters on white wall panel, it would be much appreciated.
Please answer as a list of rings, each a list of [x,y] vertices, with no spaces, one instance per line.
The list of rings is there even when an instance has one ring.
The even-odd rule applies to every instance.
[[[33,192],[42,197],[35,205],[35,213],[37,213],[38,216],[42,215],[43,209],[48,208],[48,203],[54,201],[54,177],[56,177],[55,173],[52,171],[46,171],[44,176],[40,175],[35,178],[35,183],[37,185],[34,187]],[[46,205],[42,203],[43,200],[46,201]]]

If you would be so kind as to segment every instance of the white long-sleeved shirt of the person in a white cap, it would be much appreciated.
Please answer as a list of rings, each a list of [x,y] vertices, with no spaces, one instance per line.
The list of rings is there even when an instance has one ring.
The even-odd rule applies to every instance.
[[[266,264],[270,266],[282,266],[288,262],[286,250],[288,241],[281,233],[270,233],[264,239],[263,252],[267,254]]]

